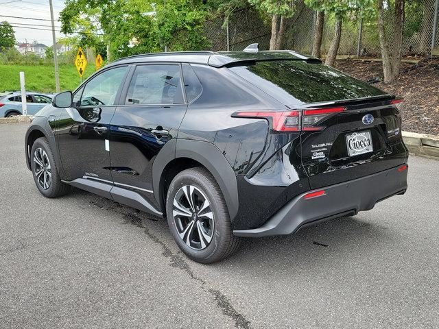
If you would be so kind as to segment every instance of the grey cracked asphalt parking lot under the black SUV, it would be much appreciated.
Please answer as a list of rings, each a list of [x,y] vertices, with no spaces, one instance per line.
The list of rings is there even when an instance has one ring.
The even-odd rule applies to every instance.
[[[27,125],[0,125],[0,328],[439,328],[439,161],[409,191],[200,265],[163,220],[75,190],[46,199]]]

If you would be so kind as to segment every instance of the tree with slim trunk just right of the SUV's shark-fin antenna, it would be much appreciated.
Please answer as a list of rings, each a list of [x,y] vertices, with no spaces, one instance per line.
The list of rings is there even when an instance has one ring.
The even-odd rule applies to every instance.
[[[248,0],[248,2],[271,17],[270,50],[281,49],[287,19],[296,12],[297,0]]]

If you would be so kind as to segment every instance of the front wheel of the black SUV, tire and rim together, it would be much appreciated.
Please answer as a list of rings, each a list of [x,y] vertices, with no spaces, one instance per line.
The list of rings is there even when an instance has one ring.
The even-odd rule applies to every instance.
[[[61,197],[70,191],[70,186],[61,181],[54,153],[47,138],[40,137],[34,142],[30,153],[30,161],[36,187],[42,195],[45,197]]]

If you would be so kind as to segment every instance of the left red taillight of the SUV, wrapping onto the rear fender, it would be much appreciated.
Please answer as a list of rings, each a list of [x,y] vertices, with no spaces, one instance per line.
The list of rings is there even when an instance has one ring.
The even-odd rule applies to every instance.
[[[300,111],[283,112],[236,112],[232,117],[267,119],[276,132],[318,131],[323,119],[332,114],[344,112],[346,108],[312,108]]]

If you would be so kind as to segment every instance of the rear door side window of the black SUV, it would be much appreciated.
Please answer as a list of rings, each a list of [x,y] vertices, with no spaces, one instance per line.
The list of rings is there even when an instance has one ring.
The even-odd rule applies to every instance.
[[[139,65],[134,71],[126,104],[185,103],[180,83],[180,65]]]

